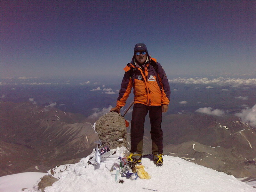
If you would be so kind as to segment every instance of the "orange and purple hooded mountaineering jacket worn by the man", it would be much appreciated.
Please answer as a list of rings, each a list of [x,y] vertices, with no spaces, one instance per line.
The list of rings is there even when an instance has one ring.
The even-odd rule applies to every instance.
[[[134,58],[124,68],[124,78],[117,98],[116,107],[125,105],[133,87],[134,104],[147,106],[168,105],[170,102],[170,85],[162,66],[156,59],[148,56],[145,69],[136,66]]]

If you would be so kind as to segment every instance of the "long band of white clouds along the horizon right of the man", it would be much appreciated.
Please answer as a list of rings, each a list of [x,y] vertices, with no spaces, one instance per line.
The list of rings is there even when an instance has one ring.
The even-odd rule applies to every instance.
[[[243,85],[256,85],[255,79],[240,79],[240,78],[224,78],[218,77],[216,79],[208,79],[207,77],[203,78],[174,78],[169,79],[171,83],[184,83],[184,84],[219,84],[219,85],[233,85],[234,87],[243,86]]]

